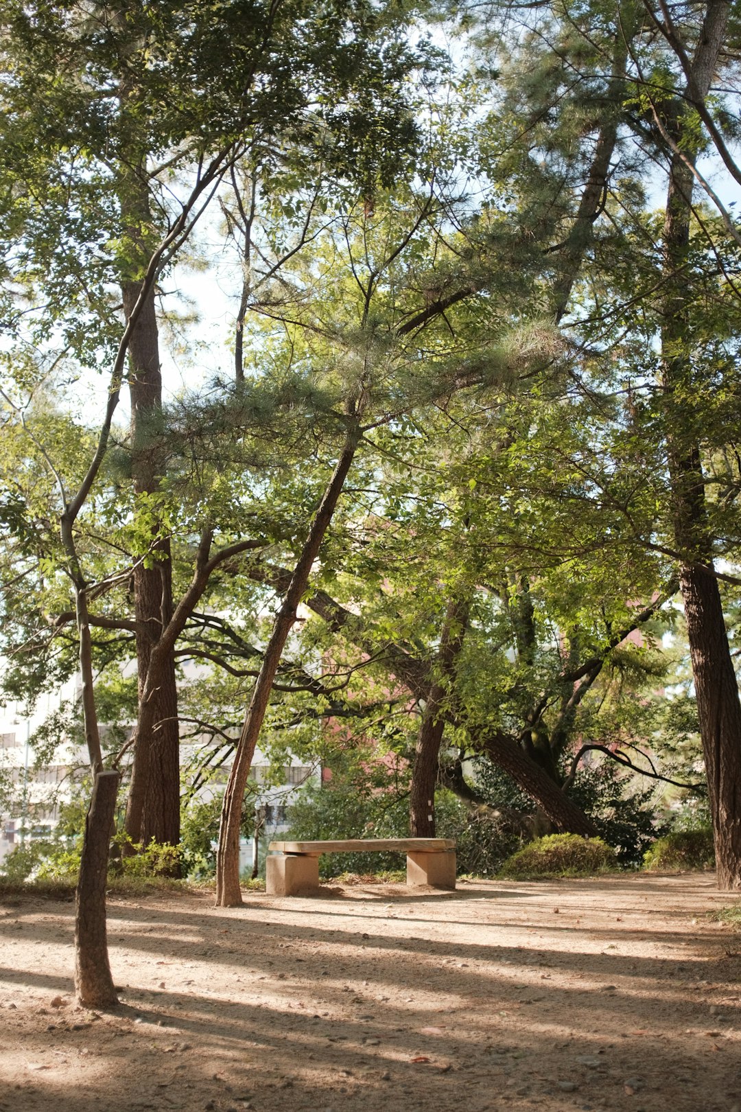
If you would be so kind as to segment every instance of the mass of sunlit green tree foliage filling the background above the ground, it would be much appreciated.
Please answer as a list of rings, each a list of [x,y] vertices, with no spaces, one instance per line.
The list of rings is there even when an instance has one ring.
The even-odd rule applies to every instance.
[[[121,678],[134,655],[131,565],[157,562],[151,537],[161,527],[176,599],[204,530],[214,547],[253,545],[212,575],[174,649],[198,668],[196,678],[192,667],[181,673],[178,693],[199,748],[188,790],[228,763],[346,405],[362,397],[363,440],[260,739],[277,765],[300,754],[333,771],[302,793],[291,834],[407,833],[422,688],[437,676],[442,622],[459,597],[470,620],[454,675],[442,677],[443,752],[464,770],[471,798],[439,792],[437,815],[463,871],[490,875],[541,817],[485,755],[491,734],[557,785],[584,741],[638,764],[649,753],[673,778],[699,778],[694,697],[678,663],[684,628],[671,604],[659,605],[675,589],[681,553],[658,388],[663,232],[647,202],[655,167],[672,157],[658,121],[671,117],[684,78],[659,24],[647,32],[629,8],[584,0],[575,18],[558,0],[494,6],[485,26],[459,9],[467,61],[455,72],[451,59],[439,89],[425,68],[433,52],[409,46],[424,32],[419,22],[407,34],[404,4],[228,0],[201,11],[189,0],[133,4],[99,22],[77,0],[2,0],[0,230],[11,250],[0,275],[10,384],[0,415],[0,648],[9,695],[33,696],[77,668],[50,461],[73,490],[97,434],[76,396],[84,375],[110,363],[120,287],[141,276],[196,167],[226,151],[234,172],[214,195],[226,230],[211,220],[206,237],[211,246],[221,237],[218,249],[207,258],[204,242],[190,260],[168,259],[157,311],[170,356],[198,366],[207,341],[186,328],[169,288],[197,264],[204,287],[223,280],[237,312],[241,287],[242,380],[219,369],[201,383],[199,374],[198,393],[177,396],[168,384],[154,492],[133,490],[132,444],[116,429],[76,526],[101,623],[92,654],[107,755],[137,717],[137,681],[130,669]],[[673,17],[688,57],[694,16]],[[723,54],[724,78],[735,57]],[[733,80],[719,73],[717,85],[730,90]],[[728,131],[731,93],[713,96],[710,111]],[[692,117],[687,141],[699,149],[710,141],[702,135]],[[598,149],[607,161],[592,172]],[[587,218],[585,182],[601,183]],[[132,219],[140,187],[148,211]],[[684,411],[708,476],[711,549],[733,565],[738,236],[694,208],[682,271],[691,291]],[[214,261],[224,252],[233,274]],[[723,588],[732,638],[737,588]],[[662,644],[668,633],[677,653]],[[658,696],[662,688],[671,694]],[[77,739],[79,722],[58,715],[39,733],[41,761],[64,731]],[[352,768],[343,764],[350,745]],[[621,864],[642,860],[667,807],[675,828],[704,815],[700,792],[678,810],[675,791],[659,798],[609,758],[585,759],[568,800]],[[179,852],[189,875],[210,875],[217,806],[191,805],[179,850],[143,847],[136,867],[157,873]],[[57,858],[67,867],[73,853],[71,843],[50,851],[50,864],[29,873]],[[321,867],[369,864],[362,855]],[[22,873],[28,853],[10,867]]]

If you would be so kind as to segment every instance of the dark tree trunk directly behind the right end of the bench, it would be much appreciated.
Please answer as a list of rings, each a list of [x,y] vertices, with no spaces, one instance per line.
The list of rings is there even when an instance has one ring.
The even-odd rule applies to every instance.
[[[440,638],[438,658],[440,675],[430,684],[414,749],[409,807],[412,837],[434,837],[434,790],[438,783],[440,745],[445,726],[443,703],[448,682],[452,679],[455,658],[463,644],[467,622],[468,603],[451,600],[448,604]]]

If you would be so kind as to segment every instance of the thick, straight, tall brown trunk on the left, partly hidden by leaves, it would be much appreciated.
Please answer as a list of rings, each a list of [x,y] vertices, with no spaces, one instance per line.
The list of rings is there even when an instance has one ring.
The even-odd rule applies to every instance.
[[[146,187],[134,183],[132,191],[133,196],[122,201],[122,209],[133,241],[142,247],[143,258],[147,256],[144,229],[149,224],[149,198]],[[138,281],[123,285],[127,319],[140,290]],[[162,424],[162,374],[153,288],[131,334],[129,373],[134,492],[154,494],[161,477],[158,439]],[[148,718],[153,725],[137,729],[126,832],[132,842],[149,844],[153,840],[177,845],[180,841],[180,737],[173,651],[164,657],[160,655],[156,683],[148,684],[152,649],[172,616],[170,540],[158,533],[154,525],[152,559],[147,562],[151,566],[139,564],[133,574],[140,717],[141,699],[144,688],[149,687],[153,694],[152,714]]]

